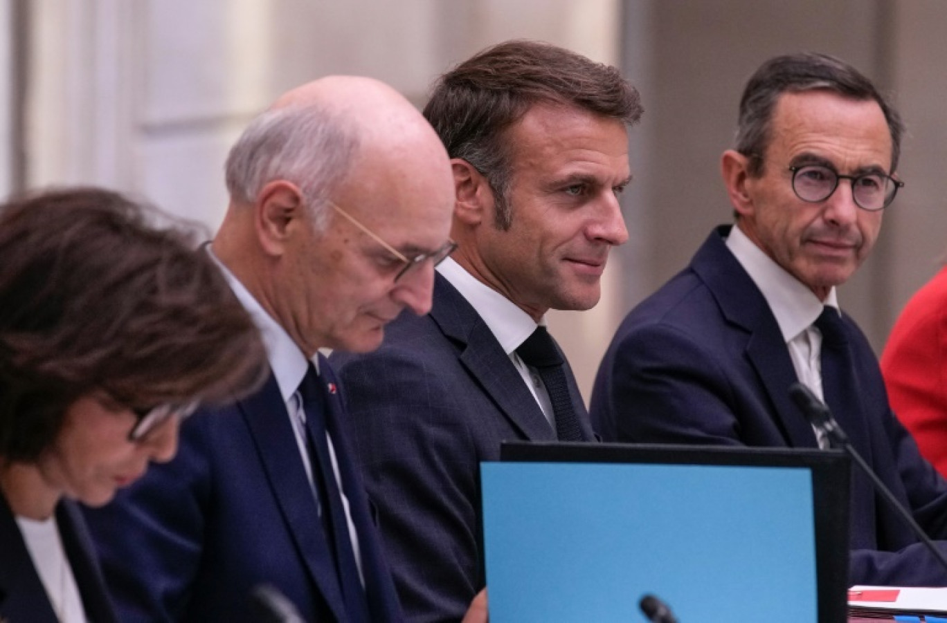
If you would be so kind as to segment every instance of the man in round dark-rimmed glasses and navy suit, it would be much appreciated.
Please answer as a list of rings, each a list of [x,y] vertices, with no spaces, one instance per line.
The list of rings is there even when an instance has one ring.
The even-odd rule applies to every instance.
[[[898,113],[842,61],[797,54],[759,68],[722,159],[736,225],[710,234],[619,327],[592,398],[603,439],[824,446],[790,399],[801,381],[920,526],[947,538],[947,485],[895,420],[835,293],[902,185],[901,135]],[[857,470],[851,520],[852,583],[947,582]]]

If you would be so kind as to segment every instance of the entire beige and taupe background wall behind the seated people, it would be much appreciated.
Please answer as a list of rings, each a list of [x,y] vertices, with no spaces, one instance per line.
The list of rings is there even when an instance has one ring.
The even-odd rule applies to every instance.
[[[874,257],[842,292],[880,348],[947,249],[945,26],[939,0],[6,0],[0,191],[103,183],[213,228],[226,149],[297,83],[363,74],[420,105],[439,73],[513,37],[620,63],[646,108],[631,132],[632,237],[599,307],[550,320],[587,391],[624,312],[729,220],[718,159],[745,79],[772,55],[825,51],[892,90],[909,128],[907,186]],[[27,53],[13,54],[15,42]],[[11,116],[20,97],[23,118]],[[11,175],[21,152],[25,169]]]

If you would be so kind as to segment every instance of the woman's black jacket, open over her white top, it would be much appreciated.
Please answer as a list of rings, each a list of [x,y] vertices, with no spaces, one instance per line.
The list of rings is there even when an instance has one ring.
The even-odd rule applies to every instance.
[[[116,621],[105,582],[98,569],[92,541],[75,502],[61,500],[56,506],[56,524],[63,549],[72,567],[90,623]],[[27,544],[23,540],[7,500],[0,494],[0,621],[9,623],[59,623],[46,597]]]

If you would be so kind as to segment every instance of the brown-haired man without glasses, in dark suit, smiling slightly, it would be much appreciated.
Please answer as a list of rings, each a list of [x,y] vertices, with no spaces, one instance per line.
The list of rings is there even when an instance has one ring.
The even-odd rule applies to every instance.
[[[428,315],[332,355],[411,620],[456,620],[484,586],[479,461],[504,440],[594,439],[542,325],[599,300],[640,113],[615,68],[530,42],[461,63],[424,109],[452,159],[457,250]]]

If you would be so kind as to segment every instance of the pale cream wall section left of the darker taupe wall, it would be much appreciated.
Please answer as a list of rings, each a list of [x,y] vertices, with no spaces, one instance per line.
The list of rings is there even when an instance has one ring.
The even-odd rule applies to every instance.
[[[105,184],[211,229],[226,206],[227,149],[254,114],[296,84],[372,76],[420,106],[439,74],[491,43],[541,39],[617,63],[622,29],[618,0],[30,6],[29,185]],[[623,307],[614,271],[606,281],[597,310],[550,318],[583,387]]]

